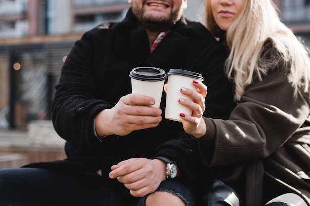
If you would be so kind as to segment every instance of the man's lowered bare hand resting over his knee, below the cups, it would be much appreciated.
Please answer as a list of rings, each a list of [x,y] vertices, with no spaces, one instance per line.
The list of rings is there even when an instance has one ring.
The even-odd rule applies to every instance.
[[[158,159],[131,158],[111,167],[111,179],[117,180],[130,190],[134,197],[154,192],[166,180],[167,164]]]

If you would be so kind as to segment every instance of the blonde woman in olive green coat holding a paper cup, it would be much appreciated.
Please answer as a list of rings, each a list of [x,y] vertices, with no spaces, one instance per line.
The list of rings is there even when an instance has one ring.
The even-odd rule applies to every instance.
[[[229,51],[226,73],[237,106],[227,121],[180,114],[185,131],[197,138],[205,165],[233,170],[221,180],[243,205],[261,206],[285,193],[271,202],[310,205],[307,50],[281,23],[272,0],[205,5],[207,28]]]

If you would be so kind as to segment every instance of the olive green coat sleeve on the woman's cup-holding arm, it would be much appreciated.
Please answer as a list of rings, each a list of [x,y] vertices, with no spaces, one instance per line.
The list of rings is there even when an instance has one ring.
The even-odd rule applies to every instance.
[[[207,132],[198,139],[208,166],[230,165],[268,157],[306,121],[309,93],[294,88],[285,68],[275,68],[247,86],[229,120],[207,119]],[[211,152],[209,142],[214,142]]]

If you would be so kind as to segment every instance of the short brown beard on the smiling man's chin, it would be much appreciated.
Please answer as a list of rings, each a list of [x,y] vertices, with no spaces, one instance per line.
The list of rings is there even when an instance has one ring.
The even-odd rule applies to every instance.
[[[163,31],[170,28],[172,25],[175,24],[176,21],[180,19],[179,13],[171,13],[169,17],[166,16],[153,16],[145,15],[144,11],[141,9],[134,9],[133,13],[135,14],[136,18],[138,19],[139,23],[142,27],[151,32],[155,31]]]

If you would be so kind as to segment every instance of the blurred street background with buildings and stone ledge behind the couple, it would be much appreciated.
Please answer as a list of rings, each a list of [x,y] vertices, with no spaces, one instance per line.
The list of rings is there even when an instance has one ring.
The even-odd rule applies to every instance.
[[[128,0],[0,0],[0,168],[65,157],[50,106],[74,42],[121,20]],[[310,46],[310,0],[273,0],[282,21]],[[197,21],[203,0],[188,0]]]

